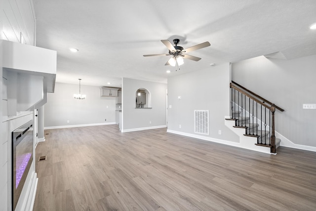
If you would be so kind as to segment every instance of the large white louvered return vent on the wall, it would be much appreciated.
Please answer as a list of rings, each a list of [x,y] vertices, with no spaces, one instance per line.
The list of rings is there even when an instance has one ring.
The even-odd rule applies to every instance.
[[[194,111],[194,132],[198,134],[209,135],[208,132],[208,110]]]

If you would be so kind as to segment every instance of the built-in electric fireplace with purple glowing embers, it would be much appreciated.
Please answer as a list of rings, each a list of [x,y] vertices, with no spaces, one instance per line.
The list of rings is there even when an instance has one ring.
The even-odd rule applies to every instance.
[[[33,161],[33,120],[12,131],[12,210]]]

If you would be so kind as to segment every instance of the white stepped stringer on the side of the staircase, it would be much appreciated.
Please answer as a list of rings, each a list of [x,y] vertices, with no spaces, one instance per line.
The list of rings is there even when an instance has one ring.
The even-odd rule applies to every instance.
[[[230,118],[231,118],[230,116],[225,116],[225,119],[230,119]],[[235,146],[241,147],[244,149],[254,150],[257,152],[271,154],[270,147],[255,145],[255,143],[257,143],[256,137],[244,136],[244,134],[245,134],[244,128],[234,128],[233,126],[235,126],[235,121],[225,120],[225,126],[228,127],[229,129],[231,129],[239,137],[239,143],[234,144]]]

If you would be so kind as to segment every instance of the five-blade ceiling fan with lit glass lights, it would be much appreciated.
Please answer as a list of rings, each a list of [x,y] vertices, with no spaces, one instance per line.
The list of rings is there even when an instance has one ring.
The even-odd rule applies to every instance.
[[[143,56],[147,57],[147,56],[170,56],[171,55],[172,57],[167,61],[165,65],[171,65],[174,67],[177,64],[178,66],[183,65],[184,63],[183,58],[190,59],[196,62],[199,61],[201,58],[196,57],[196,56],[191,56],[185,53],[189,53],[191,51],[195,51],[197,49],[205,48],[211,45],[209,42],[203,42],[195,46],[183,49],[183,47],[178,46],[179,41],[180,41],[179,39],[174,39],[173,43],[175,44],[175,46],[173,46],[169,40],[162,39],[161,42],[169,49],[168,54],[150,54],[150,55],[143,55]]]

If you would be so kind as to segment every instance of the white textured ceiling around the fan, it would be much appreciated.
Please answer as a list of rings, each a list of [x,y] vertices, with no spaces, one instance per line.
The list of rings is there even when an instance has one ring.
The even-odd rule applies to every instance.
[[[33,0],[37,46],[57,51],[56,82],[121,87],[128,77],[167,77],[261,55],[294,59],[316,54],[315,0]],[[161,39],[180,39],[202,58],[180,70],[164,66]],[[69,47],[78,48],[77,53]],[[167,74],[166,70],[171,70]],[[107,82],[111,82],[108,85]]]

